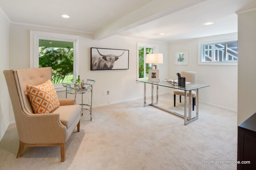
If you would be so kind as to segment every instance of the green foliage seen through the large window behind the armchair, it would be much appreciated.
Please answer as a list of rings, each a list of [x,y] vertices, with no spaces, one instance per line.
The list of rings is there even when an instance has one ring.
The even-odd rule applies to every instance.
[[[53,84],[73,82],[73,54],[70,47],[39,47],[39,67],[52,67]]]

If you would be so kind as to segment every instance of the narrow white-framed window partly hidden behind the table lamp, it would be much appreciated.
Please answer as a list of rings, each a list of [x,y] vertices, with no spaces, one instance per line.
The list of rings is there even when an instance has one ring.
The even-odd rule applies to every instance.
[[[151,63],[145,63],[146,54],[158,53],[158,45],[138,42],[137,49],[137,79],[148,79]]]

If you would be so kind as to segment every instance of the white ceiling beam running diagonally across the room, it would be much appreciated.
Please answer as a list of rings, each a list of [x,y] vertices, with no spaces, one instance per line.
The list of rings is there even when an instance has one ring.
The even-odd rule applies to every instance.
[[[94,40],[102,40],[206,0],[153,0],[143,7],[99,29]],[[160,25],[159,25],[160,26]]]

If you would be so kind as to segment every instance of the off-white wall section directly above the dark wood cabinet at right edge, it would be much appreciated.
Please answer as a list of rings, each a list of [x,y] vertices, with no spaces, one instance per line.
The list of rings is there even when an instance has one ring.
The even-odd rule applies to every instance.
[[[256,112],[255,18],[256,11],[238,15],[238,125]]]

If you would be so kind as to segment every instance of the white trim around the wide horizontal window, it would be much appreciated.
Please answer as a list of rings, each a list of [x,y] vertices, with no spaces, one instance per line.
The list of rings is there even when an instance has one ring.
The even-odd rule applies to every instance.
[[[201,45],[202,44],[227,42],[227,41],[237,41],[237,38],[207,41],[207,42],[198,42],[198,64],[199,65],[232,65],[232,66],[237,66],[237,62],[201,62]]]

